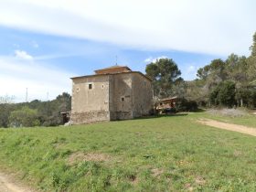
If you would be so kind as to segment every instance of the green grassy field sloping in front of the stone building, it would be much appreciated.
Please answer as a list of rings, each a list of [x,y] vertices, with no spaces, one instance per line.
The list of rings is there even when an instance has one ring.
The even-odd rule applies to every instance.
[[[43,191],[255,191],[255,137],[207,116],[0,129],[0,165]]]

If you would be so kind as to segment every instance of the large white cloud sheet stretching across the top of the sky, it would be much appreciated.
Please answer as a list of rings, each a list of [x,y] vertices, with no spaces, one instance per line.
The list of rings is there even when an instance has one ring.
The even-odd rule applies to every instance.
[[[248,54],[252,0],[0,0],[0,24],[144,49]]]

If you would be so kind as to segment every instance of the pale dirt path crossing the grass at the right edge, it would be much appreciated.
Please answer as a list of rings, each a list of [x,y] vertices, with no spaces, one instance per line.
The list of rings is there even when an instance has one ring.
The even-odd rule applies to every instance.
[[[256,128],[247,127],[243,125],[222,123],[222,122],[218,122],[210,119],[200,119],[200,120],[197,120],[197,123],[205,124],[211,127],[219,128],[219,129],[229,130],[232,132],[239,132],[239,133],[245,133],[245,134],[250,134],[252,136],[256,136]]]

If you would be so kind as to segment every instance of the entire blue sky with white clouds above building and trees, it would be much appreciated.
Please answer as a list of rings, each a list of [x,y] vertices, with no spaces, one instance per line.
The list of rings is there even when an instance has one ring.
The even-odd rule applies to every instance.
[[[0,96],[17,102],[26,89],[29,101],[70,92],[70,77],[115,65],[116,56],[142,72],[155,59],[174,59],[194,80],[212,59],[248,55],[256,30],[252,0],[0,3]]]

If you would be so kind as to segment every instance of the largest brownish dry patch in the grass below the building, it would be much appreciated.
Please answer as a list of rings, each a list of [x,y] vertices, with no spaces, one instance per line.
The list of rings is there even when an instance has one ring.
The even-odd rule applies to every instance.
[[[78,162],[92,161],[92,162],[106,162],[110,161],[111,155],[101,154],[101,153],[82,153],[77,152],[69,155],[68,163],[69,165],[74,165]]]

